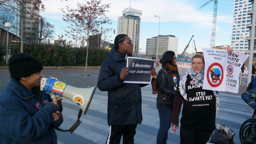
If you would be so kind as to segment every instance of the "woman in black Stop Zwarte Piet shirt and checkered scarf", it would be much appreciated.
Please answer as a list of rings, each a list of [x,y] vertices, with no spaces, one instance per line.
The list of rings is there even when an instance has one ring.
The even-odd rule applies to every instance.
[[[232,52],[233,49],[226,49]],[[219,110],[219,92],[203,90],[204,56],[192,57],[192,68],[180,77],[175,96],[172,117],[173,134],[178,129],[180,120],[180,144],[206,144],[215,129],[215,117]]]

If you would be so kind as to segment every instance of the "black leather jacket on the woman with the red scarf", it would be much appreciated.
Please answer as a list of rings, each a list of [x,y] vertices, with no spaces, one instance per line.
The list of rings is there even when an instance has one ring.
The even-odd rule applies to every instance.
[[[157,74],[157,84],[159,87],[159,92],[157,94],[158,110],[160,110],[160,103],[173,106],[174,97],[176,94],[176,90],[174,90],[173,75],[174,74],[176,75],[177,84],[180,81],[180,77],[177,71],[176,72],[170,71],[170,69],[166,65],[162,65],[162,68],[166,70],[168,79],[166,77],[165,71],[163,69],[160,69],[160,71]]]

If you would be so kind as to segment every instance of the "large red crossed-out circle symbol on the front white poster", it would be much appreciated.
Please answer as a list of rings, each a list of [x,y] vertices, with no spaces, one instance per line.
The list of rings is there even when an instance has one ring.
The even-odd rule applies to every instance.
[[[223,81],[223,67],[215,62],[211,64],[206,73],[207,82],[211,87],[218,87]]]

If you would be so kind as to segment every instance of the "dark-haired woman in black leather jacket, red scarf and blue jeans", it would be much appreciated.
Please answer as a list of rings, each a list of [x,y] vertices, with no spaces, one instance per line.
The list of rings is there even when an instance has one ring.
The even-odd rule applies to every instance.
[[[173,51],[163,54],[160,63],[162,69],[157,74],[159,92],[157,95],[157,109],[160,125],[157,133],[157,144],[166,144],[168,130],[172,124],[173,103],[179,82],[179,74],[176,62],[178,59]]]

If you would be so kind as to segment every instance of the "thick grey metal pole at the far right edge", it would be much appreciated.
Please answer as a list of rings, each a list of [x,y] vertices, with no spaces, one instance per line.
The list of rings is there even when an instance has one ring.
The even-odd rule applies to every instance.
[[[253,7],[256,8],[256,3],[253,3]],[[252,33],[251,33],[248,77],[247,77],[246,86],[248,86],[248,84],[252,81],[252,60],[253,60],[253,50],[254,50],[254,38],[255,38],[255,22],[256,22],[256,12],[254,11],[252,14],[252,29],[251,29]]]

